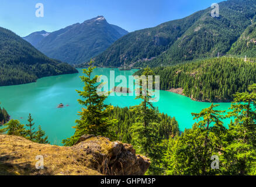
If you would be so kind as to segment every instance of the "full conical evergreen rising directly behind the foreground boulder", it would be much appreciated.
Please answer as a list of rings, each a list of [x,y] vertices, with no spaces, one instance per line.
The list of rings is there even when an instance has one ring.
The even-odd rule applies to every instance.
[[[115,119],[109,119],[113,106],[105,105],[103,103],[108,97],[107,95],[109,95],[109,92],[97,92],[97,89],[103,86],[104,83],[97,84],[97,79],[99,78],[98,75],[91,79],[94,69],[95,67],[90,66],[88,69],[83,70],[86,75],[81,77],[82,82],[85,84],[84,90],[77,92],[79,93],[79,96],[85,99],[78,99],[79,104],[85,106],[85,108],[82,108],[82,112],[79,112],[79,116],[81,116],[80,120],[75,121],[77,126],[74,127],[76,129],[74,136],[67,138],[67,140],[63,140],[65,146],[74,145],[79,137],[84,134],[115,138],[115,133],[113,133],[111,127],[117,122]]]

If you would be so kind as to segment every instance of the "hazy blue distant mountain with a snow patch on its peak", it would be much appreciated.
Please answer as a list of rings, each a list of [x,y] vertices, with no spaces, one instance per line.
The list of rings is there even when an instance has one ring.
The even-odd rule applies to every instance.
[[[98,16],[52,32],[35,47],[51,58],[78,64],[102,53],[127,33],[118,26],[110,25],[103,16]]]

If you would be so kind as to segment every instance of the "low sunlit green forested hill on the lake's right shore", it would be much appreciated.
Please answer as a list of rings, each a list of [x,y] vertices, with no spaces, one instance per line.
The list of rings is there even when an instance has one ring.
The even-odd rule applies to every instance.
[[[185,96],[199,101],[233,101],[234,93],[256,82],[256,64],[238,58],[210,58],[153,71],[160,75],[160,89],[183,88]]]

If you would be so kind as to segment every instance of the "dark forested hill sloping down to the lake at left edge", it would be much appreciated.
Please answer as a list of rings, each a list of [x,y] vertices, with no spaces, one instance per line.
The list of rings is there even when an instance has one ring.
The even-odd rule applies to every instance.
[[[78,71],[71,65],[46,57],[15,33],[0,27],[0,86],[75,72]]]

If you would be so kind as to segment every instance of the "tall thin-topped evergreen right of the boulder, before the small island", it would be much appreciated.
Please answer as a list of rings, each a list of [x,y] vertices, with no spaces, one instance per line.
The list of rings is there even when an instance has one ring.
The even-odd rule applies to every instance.
[[[153,91],[147,88],[148,85],[153,84],[154,81],[149,79],[149,76],[153,76],[153,71],[149,67],[144,69],[142,79],[137,79],[136,99],[141,99],[141,103],[138,106],[131,108],[132,112],[138,116],[136,123],[131,127],[132,144],[136,150],[143,155],[149,157],[152,161],[150,169],[147,174],[159,174],[160,160],[161,160],[161,137],[158,137],[157,127],[160,121],[160,115],[158,109],[153,106],[151,102],[153,100]],[[150,86],[151,87],[151,86]],[[153,88],[153,86],[152,86]]]

